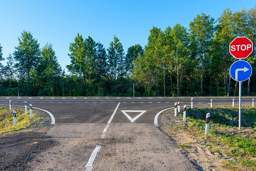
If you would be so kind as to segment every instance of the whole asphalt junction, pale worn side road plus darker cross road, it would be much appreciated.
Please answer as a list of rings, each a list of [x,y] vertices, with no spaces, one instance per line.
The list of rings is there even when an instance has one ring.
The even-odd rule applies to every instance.
[[[242,97],[242,105],[253,98]],[[193,106],[238,105],[238,97],[193,97]],[[0,105],[44,109],[55,118],[47,137],[58,145],[40,152],[32,170],[200,170],[155,127],[155,116],[191,97],[0,97]]]

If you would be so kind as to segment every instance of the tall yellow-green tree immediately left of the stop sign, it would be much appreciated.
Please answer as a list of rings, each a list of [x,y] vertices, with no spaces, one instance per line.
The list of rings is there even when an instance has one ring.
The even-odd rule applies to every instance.
[[[229,53],[229,44],[235,38],[233,15],[230,9],[224,10],[221,17],[217,19],[218,25],[213,39],[210,75],[212,75],[212,84],[217,88],[212,88],[212,91],[217,92],[217,95],[220,90],[219,87],[221,87],[220,83],[223,80],[224,94],[230,93],[231,76],[229,75],[229,68],[234,62],[234,58]]]

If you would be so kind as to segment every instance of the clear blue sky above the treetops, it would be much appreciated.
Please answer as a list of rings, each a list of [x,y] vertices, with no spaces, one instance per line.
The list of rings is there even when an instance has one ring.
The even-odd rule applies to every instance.
[[[197,14],[217,19],[226,8],[250,10],[255,4],[255,0],[0,0],[0,44],[6,58],[18,46],[23,30],[30,31],[41,48],[52,44],[59,64],[66,68],[69,44],[78,33],[101,42],[106,50],[115,34],[127,52],[135,44],[144,47],[153,26],[165,30],[179,23],[189,29]]]

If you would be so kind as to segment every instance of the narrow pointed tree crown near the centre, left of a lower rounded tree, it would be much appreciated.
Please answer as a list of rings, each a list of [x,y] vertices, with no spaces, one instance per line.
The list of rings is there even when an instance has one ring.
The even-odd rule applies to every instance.
[[[110,42],[108,51],[109,76],[113,80],[123,78],[124,70],[124,48],[120,40],[114,35]]]

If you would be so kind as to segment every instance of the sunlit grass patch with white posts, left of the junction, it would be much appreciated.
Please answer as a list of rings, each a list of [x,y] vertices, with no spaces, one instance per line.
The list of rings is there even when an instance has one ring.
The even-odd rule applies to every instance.
[[[38,117],[35,113],[32,113],[32,119],[30,115],[25,115],[25,109],[14,109],[16,111],[17,126],[13,125],[13,110],[10,111],[7,108],[0,108],[0,135],[18,131],[30,127],[32,123],[38,120],[43,120],[42,117]]]

